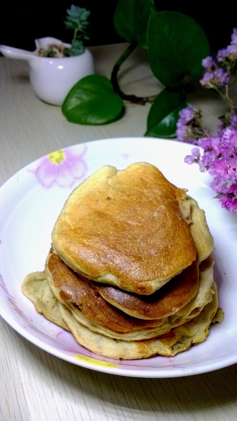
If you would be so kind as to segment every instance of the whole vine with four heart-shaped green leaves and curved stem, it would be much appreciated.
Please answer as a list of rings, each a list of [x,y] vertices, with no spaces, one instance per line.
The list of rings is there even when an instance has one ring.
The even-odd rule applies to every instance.
[[[175,137],[179,111],[188,105],[184,77],[200,75],[202,59],[210,53],[205,32],[189,16],[156,11],[153,0],[118,0],[114,26],[128,47],[115,63],[110,80],[99,75],[84,77],[68,93],[62,112],[73,123],[105,124],[122,117],[124,101],[152,102],[145,135]],[[147,49],[150,68],[164,85],[158,95],[128,95],[119,86],[120,67],[138,46]]]

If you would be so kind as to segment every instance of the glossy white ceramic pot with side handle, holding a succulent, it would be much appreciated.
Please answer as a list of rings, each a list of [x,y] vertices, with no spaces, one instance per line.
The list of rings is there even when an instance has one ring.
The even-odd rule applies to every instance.
[[[45,102],[61,105],[68,92],[84,76],[95,73],[91,52],[85,49],[80,56],[72,57],[40,57],[36,52],[48,44],[62,43],[52,37],[35,40],[36,50],[26,51],[19,48],[0,45],[1,53],[11,59],[27,60],[29,63],[29,79],[35,94]]]

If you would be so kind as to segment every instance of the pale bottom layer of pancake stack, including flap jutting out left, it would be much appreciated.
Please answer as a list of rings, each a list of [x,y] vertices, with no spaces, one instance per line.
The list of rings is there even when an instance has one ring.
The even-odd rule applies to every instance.
[[[212,301],[191,321],[156,338],[125,341],[93,332],[78,322],[72,312],[53,296],[44,272],[29,274],[22,285],[23,293],[34,302],[37,312],[61,327],[67,326],[66,329],[71,331],[80,345],[104,357],[126,360],[148,358],[157,354],[171,357],[204,341],[213,317],[216,315],[215,322],[220,322],[222,318],[221,310],[216,313],[218,298],[215,283],[212,288]]]

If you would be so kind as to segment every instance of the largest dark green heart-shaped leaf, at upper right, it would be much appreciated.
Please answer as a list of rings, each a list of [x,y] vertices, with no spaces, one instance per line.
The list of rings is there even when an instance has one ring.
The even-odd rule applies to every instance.
[[[199,75],[202,59],[209,54],[208,39],[194,19],[179,12],[151,11],[149,64],[165,86],[177,87],[185,75]]]

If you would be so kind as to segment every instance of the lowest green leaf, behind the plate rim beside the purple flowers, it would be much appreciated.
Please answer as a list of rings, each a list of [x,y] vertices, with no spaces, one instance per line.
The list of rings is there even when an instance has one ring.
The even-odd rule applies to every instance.
[[[185,97],[183,89],[178,92],[163,89],[149,111],[145,136],[175,137],[179,111],[188,106]]]

